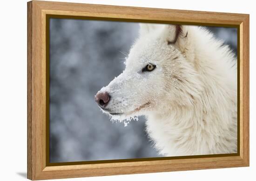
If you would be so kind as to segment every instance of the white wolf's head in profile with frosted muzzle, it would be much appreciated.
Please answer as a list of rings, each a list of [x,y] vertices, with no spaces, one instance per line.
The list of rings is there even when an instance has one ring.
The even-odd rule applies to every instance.
[[[95,96],[103,112],[122,120],[192,105],[201,82],[193,62],[191,28],[141,24],[125,70]]]

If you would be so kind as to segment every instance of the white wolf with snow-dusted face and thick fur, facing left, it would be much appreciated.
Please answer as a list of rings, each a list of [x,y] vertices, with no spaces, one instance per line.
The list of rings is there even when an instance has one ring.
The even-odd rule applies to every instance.
[[[141,24],[125,64],[95,96],[103,112],[145,115],[163,156],[237,152],[236,56],[207,29]]]

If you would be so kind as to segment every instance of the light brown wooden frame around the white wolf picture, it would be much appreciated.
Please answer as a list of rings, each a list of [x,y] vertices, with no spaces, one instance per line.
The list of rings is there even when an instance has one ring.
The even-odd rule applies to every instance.
[[[238,153],[50,164],[47,28],[50,16],[238,28]],[[31,180],[249,166],[249,15],[33,0],[27,3],[27,178]]]

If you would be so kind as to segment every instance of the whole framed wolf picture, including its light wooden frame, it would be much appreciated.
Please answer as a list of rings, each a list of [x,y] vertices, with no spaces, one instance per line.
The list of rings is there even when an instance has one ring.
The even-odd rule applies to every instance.
[[[31,180],[249,166],[249,15],[27,3]]]

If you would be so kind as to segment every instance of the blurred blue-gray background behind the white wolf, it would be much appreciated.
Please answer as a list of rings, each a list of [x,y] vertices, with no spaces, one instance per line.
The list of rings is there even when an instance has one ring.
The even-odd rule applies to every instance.
[[[236,29],[208,28],[237,52]],[[94,101],[124,69],[138,30],[138,23],[50,19],[50,162],[159,156],[143,117],[124,127]]]

